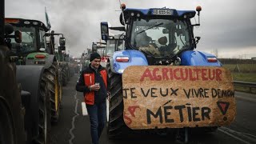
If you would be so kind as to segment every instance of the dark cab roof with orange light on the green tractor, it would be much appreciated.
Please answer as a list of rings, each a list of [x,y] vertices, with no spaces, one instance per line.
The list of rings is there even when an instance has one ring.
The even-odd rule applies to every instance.
[[[49,30],[43,22],[34,19],[5,18],[5,22],[14,26],[38,26],[45,31]]]

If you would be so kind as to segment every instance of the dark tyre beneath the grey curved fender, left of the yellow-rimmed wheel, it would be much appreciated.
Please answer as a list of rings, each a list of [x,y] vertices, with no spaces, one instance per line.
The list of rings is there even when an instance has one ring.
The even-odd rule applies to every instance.
[[[39,96],[39,135],[35,143],[49,142],[50,133],[50,91],[47,89],[47,74],[44,73],[40,83]]]

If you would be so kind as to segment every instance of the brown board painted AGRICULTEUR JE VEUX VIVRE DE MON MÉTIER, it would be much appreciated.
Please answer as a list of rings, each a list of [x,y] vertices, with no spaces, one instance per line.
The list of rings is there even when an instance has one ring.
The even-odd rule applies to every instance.
[[[123,118],[131,129],[226,126],[236,105],[229,70],[213,66],[129,66]]]

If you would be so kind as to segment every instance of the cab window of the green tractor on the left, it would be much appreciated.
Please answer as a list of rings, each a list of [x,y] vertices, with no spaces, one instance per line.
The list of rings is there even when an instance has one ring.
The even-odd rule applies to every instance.
[[[37,43],[35,37],[34,27],[17,27],[14,26],[14,30],[20,30],[22,32],[22,42],[16,43],[11,41],[12,52],[14,54],[26,54],[37,50]]]

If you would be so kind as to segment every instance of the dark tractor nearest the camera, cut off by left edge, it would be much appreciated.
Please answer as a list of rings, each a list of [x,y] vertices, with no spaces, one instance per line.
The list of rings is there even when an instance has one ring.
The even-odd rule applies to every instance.
[[[21,30],[5,24],[4,1],[0,10],[0,143],[47,143],[50,90],[45,66],[15,64],[24,58],[15,54],[18,46],[28,43]]]

